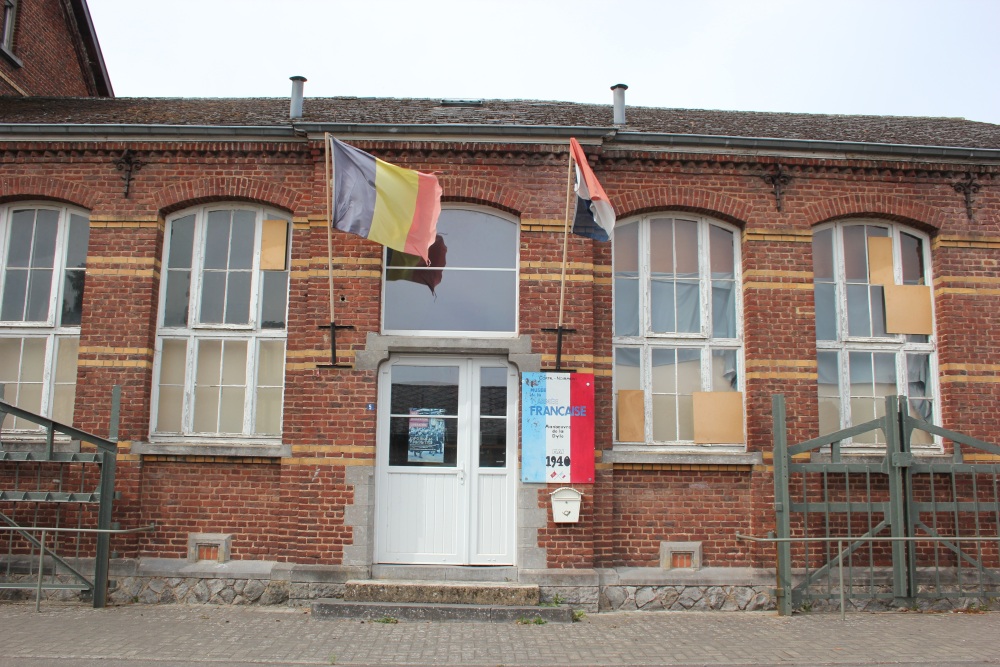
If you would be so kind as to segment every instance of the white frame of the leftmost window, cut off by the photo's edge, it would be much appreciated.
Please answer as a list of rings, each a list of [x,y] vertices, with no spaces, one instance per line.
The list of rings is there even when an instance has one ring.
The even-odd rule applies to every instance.
[[[52,417],[52,410],[55,401],[56,388],[56,360],[58,359],[58,347],[64,340],[76,341],[79,346],[80,325],[63,325],[62,323],[62,302],[66,276],[66,256],[69,247],[69,232],[71,216],[80,216],[88,221],[90,214],[74,206],[53,205],[52,202],[38,201],[18,201],[0,205],[0,315],[2,315],[2,300],[7,279],[7,254],[10,242],[11,216],[14,211],[20,210],[49,210],[58,214],[55,249],[52,267],[52,282],[49,287],[48,310],[44,320],[0,320],[0,338],[15,339],[43,339],[45,341],[44,370],[42,374],[42,395],[39,414]],[[73,375],[76,375],[74,369]],[[16,398],[11,395],[10,389],[6,388],[4,400],[8,403],[17,404]],[[33,410],[32,410],[33,411]],[[72,423],[72,414],[62,417],[60,421]],[[68,417],[68,418],[66,418]],[[29,429],[18,428],[16,430],[5,430],[4,436],[27,436],[29,439],[37,437],[41,427]]]

